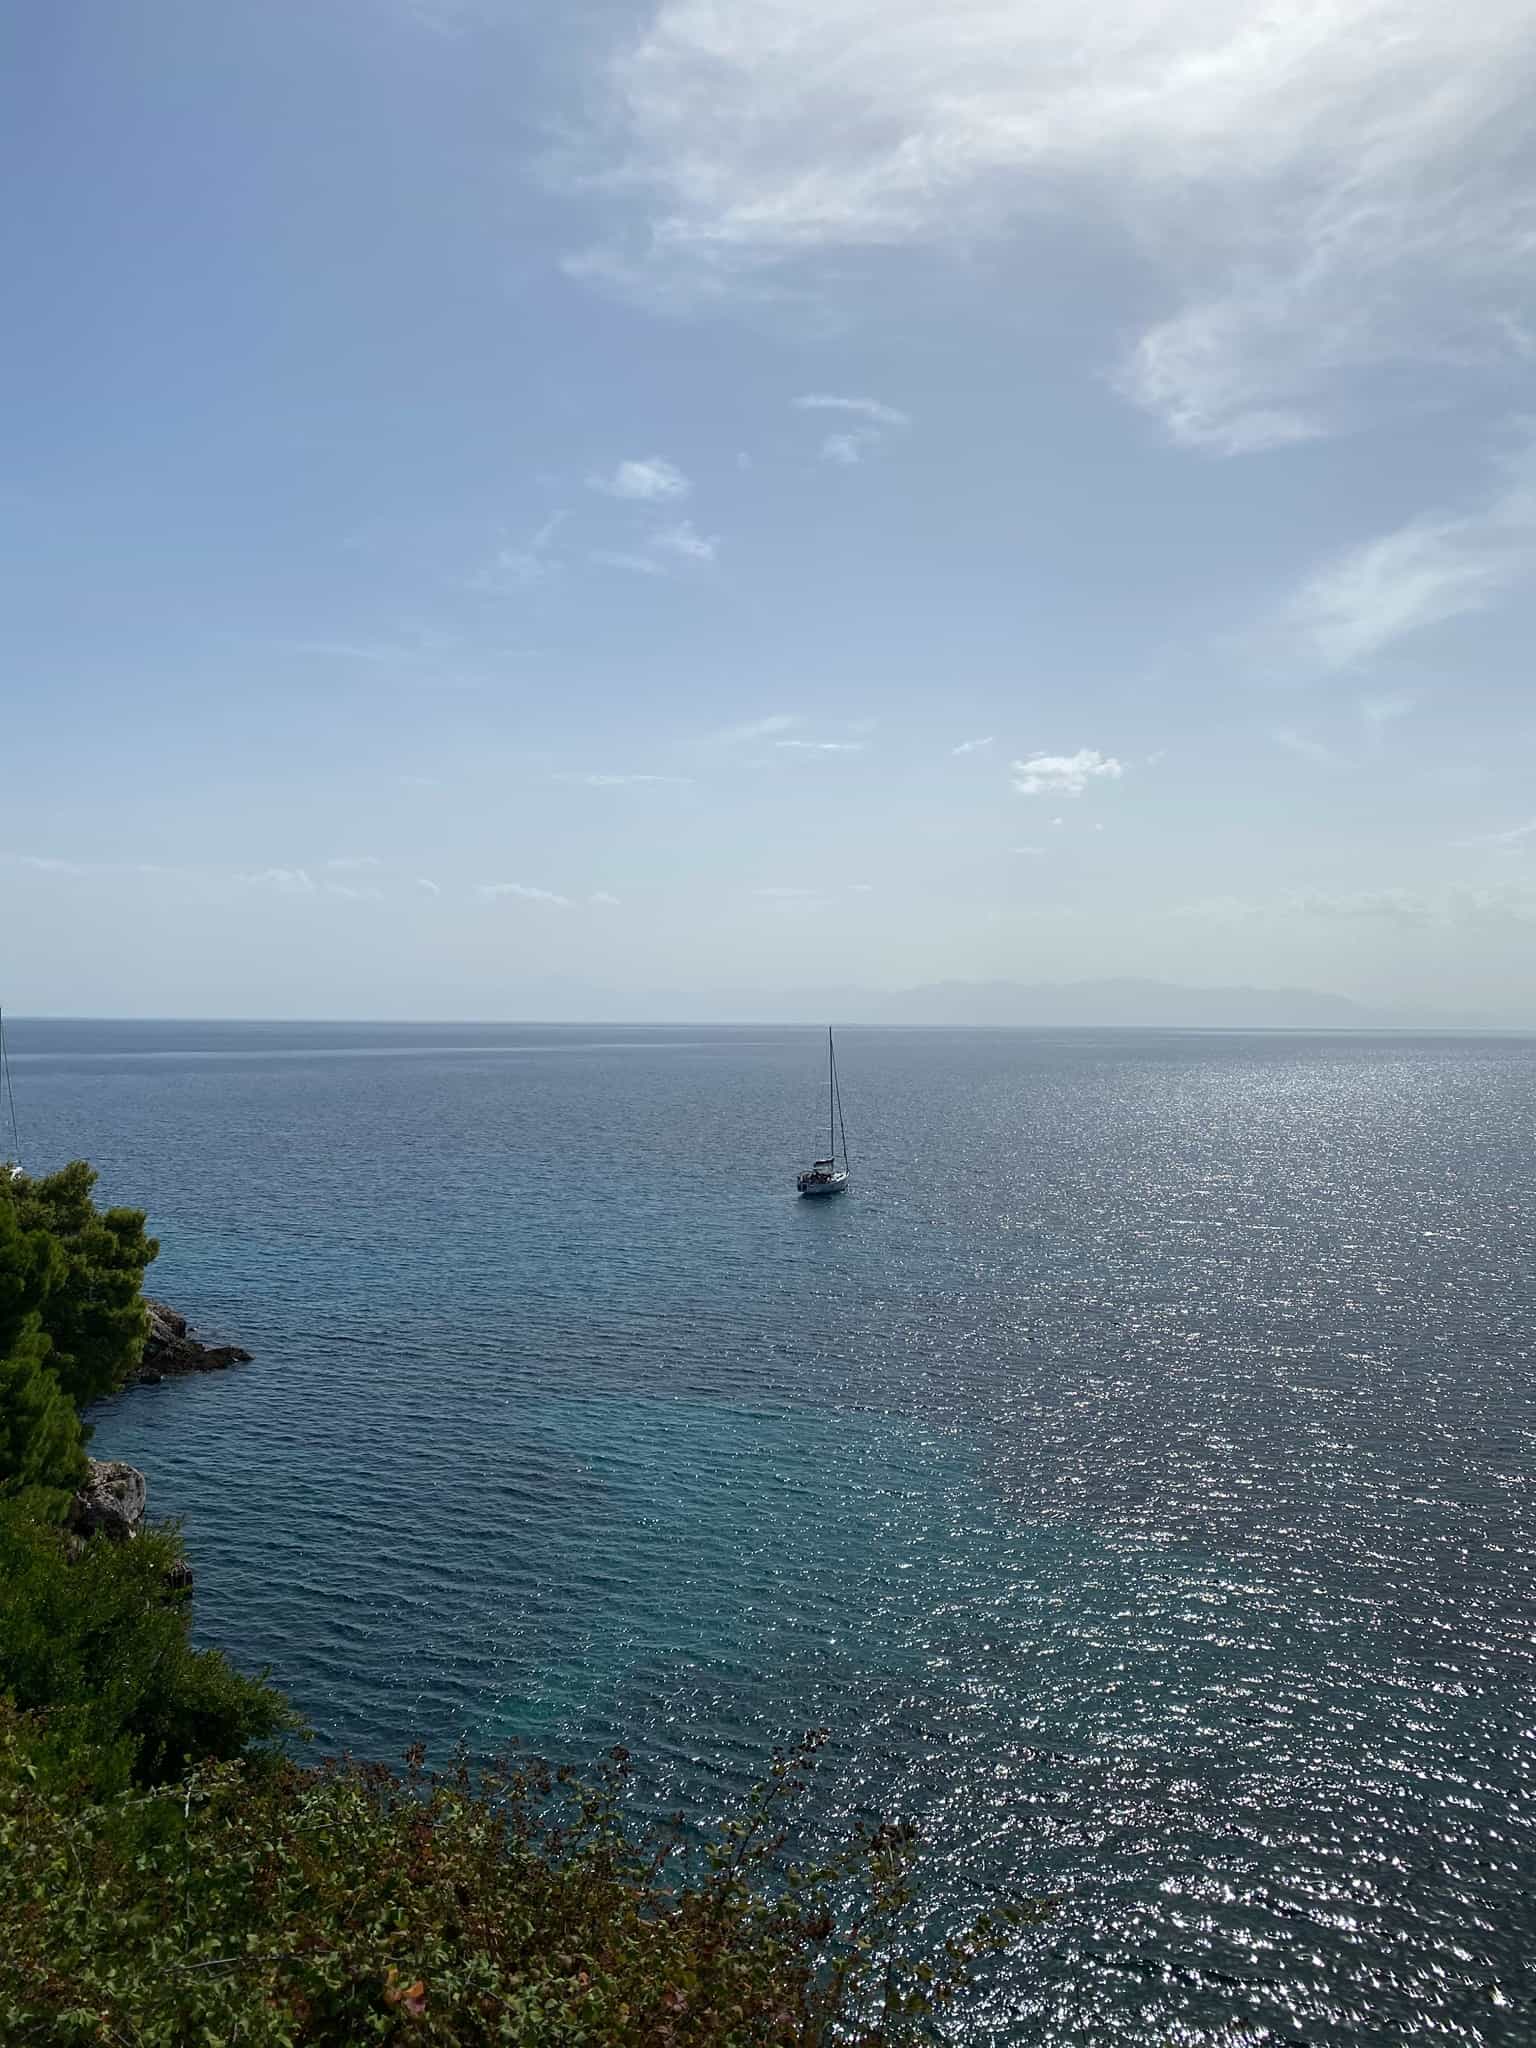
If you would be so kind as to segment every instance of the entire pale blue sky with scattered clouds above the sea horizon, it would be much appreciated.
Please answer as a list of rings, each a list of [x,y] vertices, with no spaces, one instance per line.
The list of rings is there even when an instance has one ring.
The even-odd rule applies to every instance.
[[[0,16],[0,1001],[1536,1026],[1530,0]]]

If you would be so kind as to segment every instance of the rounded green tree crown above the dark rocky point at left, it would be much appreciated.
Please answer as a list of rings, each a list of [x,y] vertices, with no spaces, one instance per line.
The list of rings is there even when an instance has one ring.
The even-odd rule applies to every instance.
[[[53,1374],[76,1407],[121,1386],[143,1356],[143,1270],[160,1251],[145,1237],[143,1210],[98,1210],[94,1186],[84,1159],[41,1180],[0,1180],[0,1208],[8,1204],[23,1231],[47,1231],[59,1247],[61,1270],[43,1296],[41,1323]]]

